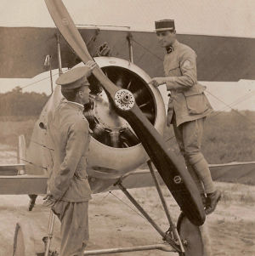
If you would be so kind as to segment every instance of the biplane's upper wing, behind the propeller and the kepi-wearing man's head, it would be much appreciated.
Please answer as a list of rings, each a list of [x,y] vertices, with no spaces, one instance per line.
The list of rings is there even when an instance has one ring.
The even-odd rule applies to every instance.
[[[150,77],[163,76],[162,60],[165,51],[151,31],[106,30],[100,27],[80,28],[88,51],[94,55],[107,42],[112,56],[129,60],[127,37],[133,44],[133,60]],[[46,55],[52,56],[52,68],[57,64],[56,28],[0,27],[1,78],[30,78],[45,70]],[[255,80],[255,38],[217,37],[179,34],[178,40],[193,48],[197,54],[198,80],[238,81]],[[63,67],[76,65],[76,54],[60,37]]]

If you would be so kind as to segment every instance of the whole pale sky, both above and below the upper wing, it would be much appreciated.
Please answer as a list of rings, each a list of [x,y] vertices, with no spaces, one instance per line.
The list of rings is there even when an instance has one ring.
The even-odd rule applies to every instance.
[[[77,25],[128,26],[154,30],[154,21],[174,19],[178,33],[255,38],[254,0],[64,0]],[[43,0],[0,0],[0,26],[54,27]],[[114,28],[114,27],[112,27]],[[117,28],[114,28],[117,29]],[[58,71],[54,71],[57,74]],[[0,78],[0,93],[16,86],[24,91],[50,94],[48,72],[31,79]],[[58,76],[55,75],[54,79]],[[44,79],[42,82],[37,82]],[[202,82],[215,109],[235,104],[255,111],[255,82]],[[213,96],[212,96],[213,95]],[[218,99],[216,99],[216,97]],[[236,101],[236,102],[235,102]],[[226,110],[228,110],[227,108]]]

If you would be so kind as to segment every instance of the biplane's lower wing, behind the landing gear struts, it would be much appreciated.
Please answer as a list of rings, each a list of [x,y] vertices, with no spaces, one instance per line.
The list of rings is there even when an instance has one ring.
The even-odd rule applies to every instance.
[[[45,175],[17,175],[24,164],[0,166],[0,195],[45,194],[47,177]],[[255,185],[255,162],[230,162],[210,164],[212,179],[215,181]],[[163,181],[156,172],[161,185]],[[127,189],[155,186],[148,169],[136,170],[122,177],[122,185]],[[111,186],[107,191],[117,190]]]

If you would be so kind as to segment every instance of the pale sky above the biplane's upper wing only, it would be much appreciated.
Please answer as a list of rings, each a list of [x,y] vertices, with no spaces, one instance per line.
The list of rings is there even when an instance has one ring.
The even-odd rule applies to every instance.
[[[0,0],[0,26],[54,26],[43,0]],[[174,19],[178,33],[255,37],[254,0],[64,0],[76,24],[154,30]]]

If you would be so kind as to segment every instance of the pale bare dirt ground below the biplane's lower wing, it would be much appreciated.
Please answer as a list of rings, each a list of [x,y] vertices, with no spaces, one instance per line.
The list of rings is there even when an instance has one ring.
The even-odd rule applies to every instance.
[[[255,255],[255,187],[218,183],[224,191],[215,213],[207,218],[212,239],[213,256]],[[178,207],[163,187],[173,219]],[[152,219],[167,230],[167,219],[154,188],[133,189],[131,194],[150,213]],[[0,255],[13,252],[14,229],[18,221],[31,224],[38,251],[42,250],[42,236],[47,234],[48,208],[42,206],[42,196],[32,212],[27,211],[27,196],[0,196]],[[128,204],[128,206],[127,206]],[[89,208],[90,241],[88,249],[130,247],[160,243],[161,237],[131,206],[122,191],[94,195]],[[59,247],[59,220],[54,226],[53,248]],[[110,255],[110,254],[109,254]],[[112,255],[112,254],[111,254]],[[117,253],[114,255],[177,255],[161,251]],[[194,255],[195,256],[195,255]]]

